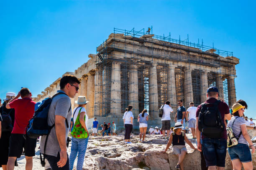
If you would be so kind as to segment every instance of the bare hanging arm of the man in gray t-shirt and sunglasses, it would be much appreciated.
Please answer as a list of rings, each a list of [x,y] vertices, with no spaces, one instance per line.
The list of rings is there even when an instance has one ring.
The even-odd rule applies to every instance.
[[[60,160],[57,162],[59,168],[64,167],[67,163],[67,141],[66,141],[66,118],[60,115],[55,115],[55,131],[57,140],[59,143],[60,151]]]

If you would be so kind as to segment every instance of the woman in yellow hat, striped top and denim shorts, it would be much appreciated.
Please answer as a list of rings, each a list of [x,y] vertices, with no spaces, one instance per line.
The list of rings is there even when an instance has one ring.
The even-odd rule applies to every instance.
[[[236,170],[241,170],[242,165],[245,170],[252,170],[253,163],[251,158],[250,148],[252,153],[255,152],[250,136],[247,133],[246,122],[243,119],[244,106],[236,103],[232,106],[233,117],[228,121],[228,127],[232,128],[233,134],[238,139],[238,144],[228,148],[228,153],[232,160],[233,167]]]

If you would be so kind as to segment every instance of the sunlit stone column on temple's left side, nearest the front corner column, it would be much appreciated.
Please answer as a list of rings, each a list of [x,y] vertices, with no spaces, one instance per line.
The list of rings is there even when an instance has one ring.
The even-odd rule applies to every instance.
[[[102,73],[101,70],[95,69],[95,99],[94,99],[94,115],[102,114]]]

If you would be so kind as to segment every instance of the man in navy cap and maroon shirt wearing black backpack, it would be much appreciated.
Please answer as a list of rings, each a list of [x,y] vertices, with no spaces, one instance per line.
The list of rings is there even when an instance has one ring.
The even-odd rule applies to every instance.
[[[216,87],[208,88],[207,97],[208,99],[197,107],[196,112],[197,148],[203,152],[208,170],[216,170],[216,166],[218,170],[224,170],[227,150],[224,117],[230,120],[231,114],[228,105],[218,100],[219,92]],[[202,143],[200,131],[202,131]]]

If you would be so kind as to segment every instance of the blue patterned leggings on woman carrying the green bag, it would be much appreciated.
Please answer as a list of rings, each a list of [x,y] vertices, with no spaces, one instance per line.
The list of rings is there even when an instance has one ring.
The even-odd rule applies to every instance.
[[[84,163],[84,155],[88,144],[88,138],[78,139],[72,137],[71,153],[69,155],[69,170],[73,169],[74,160],[77,158],[77,153],[77,170],[82,170]]]

